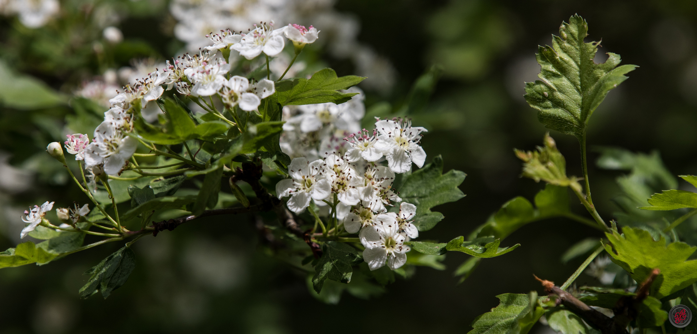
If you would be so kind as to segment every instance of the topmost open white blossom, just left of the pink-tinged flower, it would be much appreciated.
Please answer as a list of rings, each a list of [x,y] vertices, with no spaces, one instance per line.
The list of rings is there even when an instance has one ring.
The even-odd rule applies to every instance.
[[[247,59],[253,59],[261,52],[267,56],[275,56],[283,51],[285,42],[282,34],[286,30],[285,26],[276,30],[273,30],[273,22],[262,23],[261,26],[254,24],[254,26],[256,26],[254,30],[243,33],[242,40],[231,46],[233,50],[239,51],[240,56]]]

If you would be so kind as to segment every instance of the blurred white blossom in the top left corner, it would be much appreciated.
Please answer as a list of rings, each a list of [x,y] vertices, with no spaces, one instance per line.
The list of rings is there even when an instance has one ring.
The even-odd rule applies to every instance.
[[[0,0],[0,14],[16,14],[29,28],[44,26],[60,9],[58,0]]]

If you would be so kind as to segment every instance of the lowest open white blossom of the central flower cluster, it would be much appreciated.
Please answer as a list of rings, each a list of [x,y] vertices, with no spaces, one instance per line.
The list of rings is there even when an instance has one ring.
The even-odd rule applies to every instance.
[[[390,217],[388,215],[381,215]],[[391,217],[390,217],[391,218]],[[358,234],[363,250],[363,260],[367,262],[370,270],[375,270],[388,262],[388,267],[395,270],[406,263],[406,252],[411,250],[404,246],[406,237],[399,234],[397,222],[387,219],[373,226],[367,226]]]

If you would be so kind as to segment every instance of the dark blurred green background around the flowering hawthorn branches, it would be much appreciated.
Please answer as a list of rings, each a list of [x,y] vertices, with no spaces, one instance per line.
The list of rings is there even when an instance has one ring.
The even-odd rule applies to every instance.
[[[461,185],[467,196],[436,208],[445,219],[423,233],[425,239],[467,235],[503,202],[518,195],[531,199],[542,189],[519,178],[520,163],[512,154],[513,148],[533,149],[546,132],[523,100],[523,82],[539,72],[537,45],[549,44],[550,34],[574,13],[588,21],[589,40],[603,40],[598,62],[612,51],[623,63],[640,66],[594,113],[590,147],[657,150],[674,175],[697,173],[695,1],[267,2],[292,7],[296,16],[287,15],[323,31],[320,40],[326,42],[309,47],[303,58],[306,71],[328,65],[339,75],[369,77],[362,87],[369,115],[399,113],[413,82],[431,65],[441,66],[430,102],[411,116],[415,125],[429,129],[421,142],[427,161],[442,154],[445,170],[468,173]],[[59,19],[38,29],[27,28],[2,6],[0,0],[0,14],[6,14],[0,16],[0,248],[5,249],[19,241],[27,206],[85,202],[43,152],[47,143],[64,138],[66,127],[89,128],[77,123],[90,117],[99,121],[68,98],[93,76],[107,77],[110,68],[135,68],[133,59],[148,57],[161,62],[189,46],[178,38],[174,5],[164,0],[64,0]],[[105,26],[120,29],[123,40],[105,40]],[[27,93],[37,85],[49,88],[25,74],[59,94]],[[70,126],[66,119],[73,120]],[[567,157],[568,174],[581,175],[576,140],[551,135]],[[591,152],[589,159],[596,157]],[[618,175],[590,168],[594,202],[606,219],[615,210]],[[580,205],[575,209],[585,215]],[[328,305],[308,293],[304,274],[258,245],[252,217],[201,219],[135,244],[137,268],[107,300],[80,300],[77,289],[87,279],[82,272],[118,249],[116,243],[43,267],[0,270],[0,334],[464,333],[477,315],[497,305],[497,294],[542,292],[533,273],[565,280],[581,260],[562,264],[560,254],[590,236],[599,233],[565,219],[532,223],[504,241],[503,246],[520,248],[483,261],[461,285],[452,272],[466,255],[448,254],[443,271],[420,267],[413,278],[398,279],[379,296],[344,294]],[[595,279],[583,274],[578,283]],[[537,324],[531,333],[546,331],[551,330]]]

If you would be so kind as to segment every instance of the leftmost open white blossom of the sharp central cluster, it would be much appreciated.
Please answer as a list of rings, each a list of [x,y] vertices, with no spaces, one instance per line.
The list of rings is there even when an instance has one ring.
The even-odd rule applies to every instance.
[[[309,205],[311,199],[323,200],[330,195],[330,184],[320,173],[324,161],[315,160],[309,162],[307,158],[295,158],[288,166],[289,179],[284,179],[276,184],[278,198],[291,196],[288,200],[288,208],[299,214]]]

